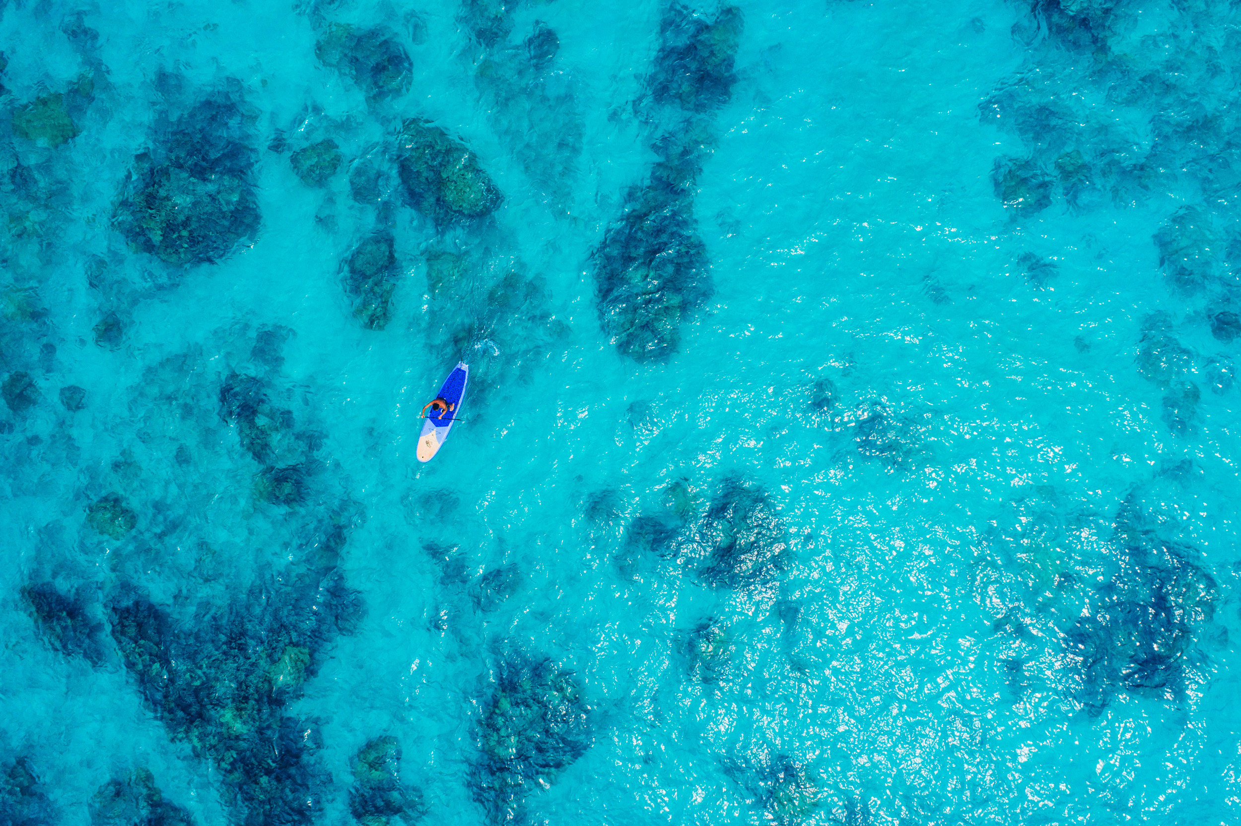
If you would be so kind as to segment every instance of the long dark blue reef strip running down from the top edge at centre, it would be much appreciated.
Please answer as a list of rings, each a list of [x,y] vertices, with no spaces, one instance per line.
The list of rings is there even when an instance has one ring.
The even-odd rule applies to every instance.
[[[675,353],[681,325],[714,291],[694,195],[710,154],[712,114],[728,102],[736,82],[741,30],[733,6],[705,20],[673,4],[660,22],[647,78],[648,114],[663,124],[652,140],[659,161],[645,182],[625,192],[620,217],[592,255],[603,332],[638,362]]]

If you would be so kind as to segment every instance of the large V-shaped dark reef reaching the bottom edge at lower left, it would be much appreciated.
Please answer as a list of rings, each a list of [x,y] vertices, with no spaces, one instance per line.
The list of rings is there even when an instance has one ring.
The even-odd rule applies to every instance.
[[[328,531],[310,569],[189,625],[141,595],[110,606],[117,652],[144,702],[218,771],[237,822],[310,826],[321,816],[330,775],[311,759],[316,728],[284,708],[314,673],[315,651],[356,623],[356,595],[328,564],[344,541]]]

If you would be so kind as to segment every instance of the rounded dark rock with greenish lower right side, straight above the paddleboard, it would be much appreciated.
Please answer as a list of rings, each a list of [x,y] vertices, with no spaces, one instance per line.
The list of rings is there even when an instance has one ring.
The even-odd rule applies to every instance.
[[[406,120],[398,151],[410,205],[439,226],[488,215],[504,200],[478,156],[429,120]]]

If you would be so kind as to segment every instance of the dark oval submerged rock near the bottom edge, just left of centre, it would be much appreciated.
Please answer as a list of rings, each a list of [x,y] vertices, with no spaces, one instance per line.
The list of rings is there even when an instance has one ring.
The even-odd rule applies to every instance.
[[[475,726],[474,796],[506,822],[535,786],[550,788],[591,745],[589,709],[573,677],[551,660],[500,664]]]

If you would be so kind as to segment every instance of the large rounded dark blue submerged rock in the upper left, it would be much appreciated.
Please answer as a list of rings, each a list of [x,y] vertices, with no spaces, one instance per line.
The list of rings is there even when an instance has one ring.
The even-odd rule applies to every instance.
[[[134,160],[112,218],[134,252],[177,267],[213,264],[254,239],[257,153],[249,118],[227,95],[196,105]]]

